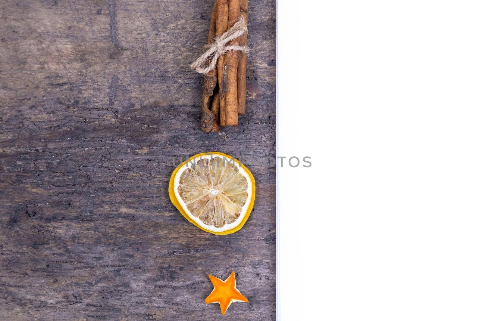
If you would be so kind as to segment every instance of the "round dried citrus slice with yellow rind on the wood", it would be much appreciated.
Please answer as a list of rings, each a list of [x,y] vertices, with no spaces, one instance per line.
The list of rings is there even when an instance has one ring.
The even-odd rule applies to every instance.
[[[179,212],[203,231],[239,231],[253,209],[254,178],[233,157],[201,153],[179,165],[169,181],[169,196]]]

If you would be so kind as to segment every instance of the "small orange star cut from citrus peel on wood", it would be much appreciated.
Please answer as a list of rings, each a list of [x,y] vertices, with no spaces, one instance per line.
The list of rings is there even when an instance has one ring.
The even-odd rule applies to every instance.
[[[236,278],[234,271],[229,275],[228,279],[221,280],[215,276],[209,275],[209,279],[213,282],[214,289],[208,297],[206,304],[219,303],[223,315],[233,302],[248,302],[248,299],[242,295],[236,288]]]

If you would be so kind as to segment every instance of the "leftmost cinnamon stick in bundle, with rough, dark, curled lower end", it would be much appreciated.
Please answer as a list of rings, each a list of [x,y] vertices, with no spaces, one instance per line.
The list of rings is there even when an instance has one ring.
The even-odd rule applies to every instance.
[[[214,8],[213,8],[213,15],[211,17],[211,24],[209,26],[209,36],[208,36],[208,44],[213,42],[214,35],[216,32],[216,17],[217,17],[217,9],[216,4],[218,0],[214,1]],[[201,116],[201,130],[205,132],[219,131],[219,126],[217,126],[217,130],[215,130],[215,118],[216,116],[210,110],[209,104],[211,103],[214,87],[217,84],[217,70],[214,68],[210,72],[204,74],[204,90],[202,91],[202,116]]]

